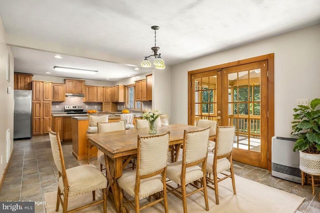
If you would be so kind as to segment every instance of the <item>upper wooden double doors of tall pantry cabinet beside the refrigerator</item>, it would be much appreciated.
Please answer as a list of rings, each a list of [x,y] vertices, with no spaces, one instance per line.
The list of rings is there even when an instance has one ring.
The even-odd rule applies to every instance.
[[[32,99],[33,100],[51,100],[52,82],[32,81]]]

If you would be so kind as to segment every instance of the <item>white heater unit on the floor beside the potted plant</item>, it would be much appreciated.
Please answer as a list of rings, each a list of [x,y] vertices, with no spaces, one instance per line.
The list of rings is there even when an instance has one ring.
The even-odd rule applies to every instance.
[[[299,151],[293,151],[296,138],[272,137],[271,175],[301,183]]]

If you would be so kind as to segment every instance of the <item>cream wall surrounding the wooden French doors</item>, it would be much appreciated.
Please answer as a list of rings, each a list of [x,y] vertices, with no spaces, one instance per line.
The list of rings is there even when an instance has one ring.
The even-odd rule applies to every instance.
[[[290,136],[296,98],[320,97],[320,24],[172,66],[171,123],[187,123],[188,71],[268,53],[274,53],[274,134]]]

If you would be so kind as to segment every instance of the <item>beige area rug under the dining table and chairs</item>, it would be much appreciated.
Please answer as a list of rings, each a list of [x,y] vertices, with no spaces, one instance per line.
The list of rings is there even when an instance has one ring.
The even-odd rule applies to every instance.
[[[214,191],[208,188],[209,211],[205,211],[204,198],[201,192],[187,197],[188,212],[295,212],[304,198],[258,182],[235,176],[237,194],[232,192],[231,179],[219,182],[219,205],[215,204]],[[97,191],[96,198],[101,197]],[[183,212],[182,201],[173,194],[168,193],[169,212]],[[44,194],[46,211],[56,212],[56,191]],[[70,209],[75,203],[85,203],[92,200],[92,193],[69,198]],[[61,206],[59,211],[62,212]],[[80,212],[103,212],[102,204],[82,209]],[[115,212],[114,206],[108,199],[107,212]],[[134,210],[130,207],[130,212]],[[142,212],[164,212],[161,204],[144,209]]]

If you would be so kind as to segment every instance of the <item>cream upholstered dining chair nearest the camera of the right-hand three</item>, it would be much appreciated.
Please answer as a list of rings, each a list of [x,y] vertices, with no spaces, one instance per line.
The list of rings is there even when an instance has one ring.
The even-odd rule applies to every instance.
[[[154,134],[137,137],[137,163],[136,170],[126,171],[117,179],[120,187],[120,209],[121,212],[129,212],[123,205],[123,198],[126,202],[139,212],[163,200],[164,211],[168,212],[166,197],[166,165],[169,147],[169,134]],[[123,191],[134,198],[129,200],[124,196]],[[157,193],[157,196],[152,194]],[[140,206],[141,199],[148,197],[146,204]],[[133,205],[134,203],[134,205]]]

